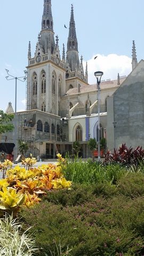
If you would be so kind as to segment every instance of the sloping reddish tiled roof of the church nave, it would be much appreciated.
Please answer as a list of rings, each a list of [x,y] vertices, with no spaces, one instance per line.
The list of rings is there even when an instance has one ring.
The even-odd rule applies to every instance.
[[[119,79],[119,85],[121,85],[126,79],[126,76],[122,77]],[[113,81],[102,81],[100,83],[100,89],[101,90],[105,90],[105,89],[109,89],[109,88],[115,88],[119,86],[117,83],[117,80],[113,80]],[[81,93],[84,92],[91,92],[91,91],[95,91],[97,90],[97,84],[89,84],[89,85],[81,85]],[[67,95],[73,95],[73,94],[77,94],[78,93],[78,88],[73,88],[73,89],[69,89],[67,91]]]

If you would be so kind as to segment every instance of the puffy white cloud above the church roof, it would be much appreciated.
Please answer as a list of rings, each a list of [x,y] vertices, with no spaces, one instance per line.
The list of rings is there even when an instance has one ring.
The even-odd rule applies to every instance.
[[[95,60],[94,57],[98,56]],[[94,76],[95,71],[103,71],[102,80],[107,79],[117,79],[117,74],[119,76],[129,75],[132,71],[131,65],[132,59],[125,55],[108,54],[100,55],[95,54],[91,60],[87,61],[89,83],[96,83],[96,78]],[[84,61],[84,67],[86,62]]]

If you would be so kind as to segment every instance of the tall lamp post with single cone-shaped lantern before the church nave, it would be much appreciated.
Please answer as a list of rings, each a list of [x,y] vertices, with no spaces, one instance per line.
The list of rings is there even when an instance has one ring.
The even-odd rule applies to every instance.
[[[98,89],[98,160],[100,160],[100,81],[103,75],[102,71],[96,71],[94,76],[97,79],[97,89]]]

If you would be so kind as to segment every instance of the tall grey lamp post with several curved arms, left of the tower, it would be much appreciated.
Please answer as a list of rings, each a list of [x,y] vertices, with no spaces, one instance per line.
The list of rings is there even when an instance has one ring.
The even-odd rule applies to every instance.
[[[6,70],[6,73],[7,73],[7,76],[5,77],[6,80],[14,80],[15,79],[15,109],[14,109],[14,144],[15,144],[15,156],[14,158],[17,157],[17,154],[16,154],[16,142],[17,142],[17,132],[16,132],[16,127],[17,127],[17,121],[16,121],[16,114],[17,114],[17,81],[21,81],[21,82],[25,82],[26,79],[27,79],[27,70],[24,70],[24,73],[25,73],[25,76],[20,76],[20,77],[17,77],[17,76],[12,76],[10,75],[9,73],[9,70],[8,69],[5,69]],[[23,79],[22,79],[23,78]]]

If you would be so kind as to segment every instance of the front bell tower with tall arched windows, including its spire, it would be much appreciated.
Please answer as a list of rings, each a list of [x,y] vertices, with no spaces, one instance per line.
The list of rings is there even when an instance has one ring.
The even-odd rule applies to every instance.
[[[38,109],[59,114],[59,102],[66,93],[65,60],[61,60],[59,38],[54,40],[51,0],[44,0],[42,29],[38,34],[34,58],[28,45],[27,110]]]

